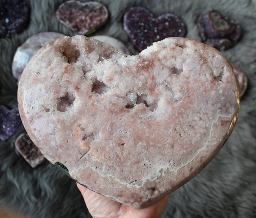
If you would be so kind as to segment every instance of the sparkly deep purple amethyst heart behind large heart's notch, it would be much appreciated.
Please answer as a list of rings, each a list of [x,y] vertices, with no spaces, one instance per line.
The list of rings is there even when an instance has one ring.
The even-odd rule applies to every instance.
[[[123,27],[139,51],[151,46],[155,41],[186,35],[186,27],[176,15],[169,13],[155,18],[142,7],[131,8],[125,13]]]

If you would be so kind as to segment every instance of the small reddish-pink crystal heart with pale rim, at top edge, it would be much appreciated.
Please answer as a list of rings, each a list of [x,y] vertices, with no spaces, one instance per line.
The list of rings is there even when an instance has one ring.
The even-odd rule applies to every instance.
[[[108,10],[98,2],[68,1],[59,6],[57,19],[79,34],[89,34],[106,23]]]

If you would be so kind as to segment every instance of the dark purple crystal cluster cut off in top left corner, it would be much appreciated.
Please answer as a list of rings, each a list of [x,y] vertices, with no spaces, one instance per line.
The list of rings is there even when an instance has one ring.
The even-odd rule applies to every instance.
[[[0,38],[21,31],[29,21],[29,7],[24,0],[0,0]]]

